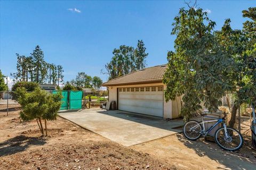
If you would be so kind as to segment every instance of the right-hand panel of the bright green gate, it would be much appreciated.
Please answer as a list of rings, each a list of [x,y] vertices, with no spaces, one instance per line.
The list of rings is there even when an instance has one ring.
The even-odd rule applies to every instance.
[[[83,91],[70,91],[69,92],[69,109],[82,108]]]

